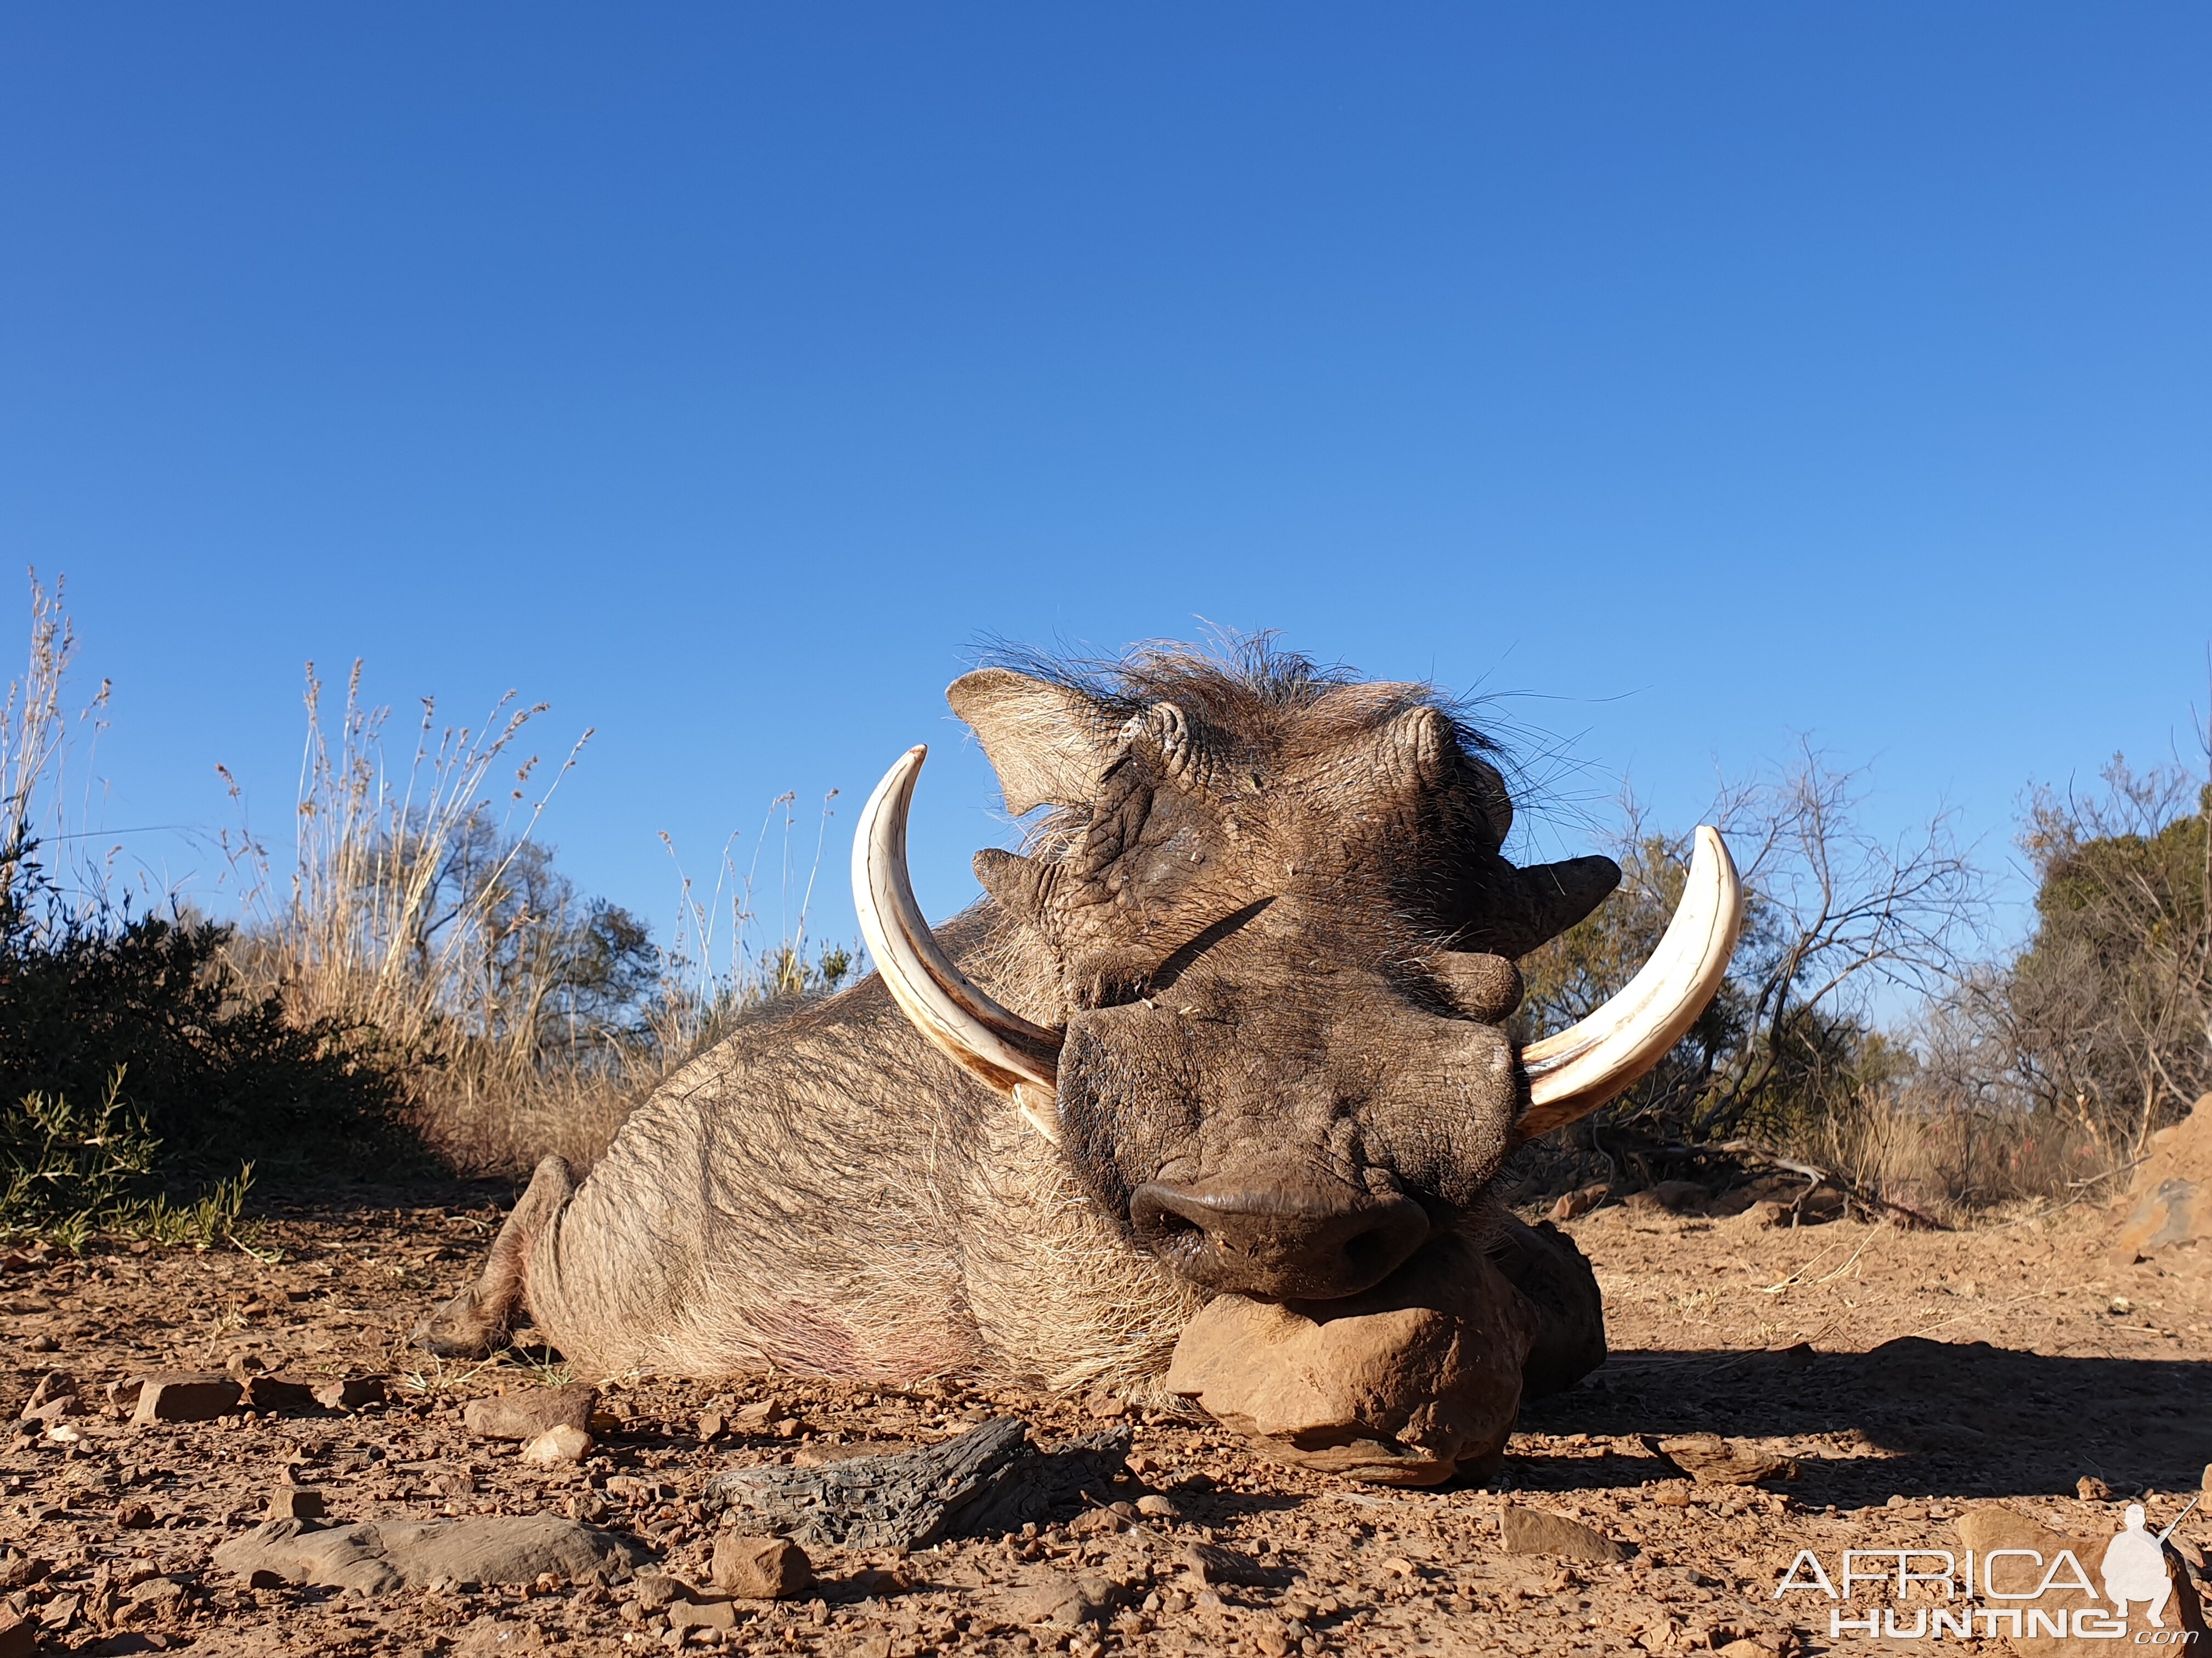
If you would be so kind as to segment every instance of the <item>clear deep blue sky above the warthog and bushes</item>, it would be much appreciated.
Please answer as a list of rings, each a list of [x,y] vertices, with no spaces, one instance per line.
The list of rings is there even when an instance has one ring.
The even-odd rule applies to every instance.
[[[664,931],[657,831],[920,738],[958,909],[971,646],[1199,617],[2002,856],[2205,699],[2208,88],[2183,4],[15,7],[0,553],[108,825],[281,831],[365,657],[595,725],[546,836]]]

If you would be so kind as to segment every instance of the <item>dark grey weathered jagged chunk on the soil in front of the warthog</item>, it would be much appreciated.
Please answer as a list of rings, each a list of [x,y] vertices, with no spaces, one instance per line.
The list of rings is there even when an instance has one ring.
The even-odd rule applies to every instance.
[[[852,1457],[823,1468],[734,1468],[708,1481],[701,1505],[734,1510],[803,1543],[914,1547],[949,1536],[1013,1470],[1029,1428],[1000,1417],[898,1457]]]

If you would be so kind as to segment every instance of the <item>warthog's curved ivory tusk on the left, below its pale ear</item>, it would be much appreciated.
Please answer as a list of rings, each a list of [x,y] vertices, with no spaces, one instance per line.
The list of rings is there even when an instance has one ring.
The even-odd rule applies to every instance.
[[[1048,1141],[1060,1081],[1060,1032],[1033,1026],[998,1006],[951,964],[907,878],[907,807],[922,774],[927,745],[898,756],[860,807],[852,840],[852,902],[885,988],[914,1028],[951,1059],[1011,1094],[1022,1116]],[[1037,1094],[1044,1094],[1042,1110]]]

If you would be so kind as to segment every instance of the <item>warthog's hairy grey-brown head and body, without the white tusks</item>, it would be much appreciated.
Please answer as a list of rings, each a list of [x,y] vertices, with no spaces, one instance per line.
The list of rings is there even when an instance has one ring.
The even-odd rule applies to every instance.
[[[1009,809],[1053,807],[938,937],[1066,1032],[1062,1145],[872,977],[695,1059],[582,1185],[546,1158],[422,1344],[487,1353],[526,1309],[602,1375],[1144,1386],[1208,1295],[1356,1295],[1442,1231],[1595,1318],[1486,1189],[1526,1105],[1513,957],[1610,860],[1504,862],[1504,780],[1418,685],[1148,652],[949,696]]]

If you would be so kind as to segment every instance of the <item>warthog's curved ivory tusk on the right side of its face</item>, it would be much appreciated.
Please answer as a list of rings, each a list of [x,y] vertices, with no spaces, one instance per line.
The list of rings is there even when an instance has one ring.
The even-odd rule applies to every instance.
[[[1721,831],[1697,827],[1690,880],[1652,959],[1588,1019],[1522,1048],[1528,1110],[1515,1141],[1533,1141],[1626,1092],[1688,1035],[1728,973],[1743,922],[1743,882]]]

